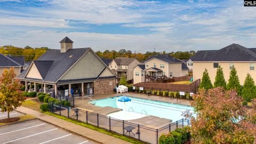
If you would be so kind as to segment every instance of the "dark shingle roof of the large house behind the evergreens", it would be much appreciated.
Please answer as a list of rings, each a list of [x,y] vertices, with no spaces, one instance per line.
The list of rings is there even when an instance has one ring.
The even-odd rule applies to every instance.
[[[220,50],[197,51],[192,61],[256,61],[255,49],[231,44]]]

